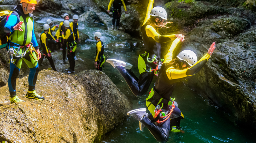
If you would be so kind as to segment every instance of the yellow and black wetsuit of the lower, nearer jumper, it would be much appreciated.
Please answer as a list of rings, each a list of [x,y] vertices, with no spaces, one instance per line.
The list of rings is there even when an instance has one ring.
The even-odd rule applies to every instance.
[[[176,83],[195,75],[210,58],[210,55],[206,54],[199,61],[197,61],[195,65],[183,70],[175,69],[174,67],[166,67],[167,63],[172,60],[173,51],[179,42],[180,39],[175,39],[171,44],[168,53],[164,56],[163,65],[157,77],[155,86],[152,88],[148,98],[146,99],[148,110],[153,116],[155,115],[154,110],[157,105],[162,107],[161,109],[163,112],[167,112],[167,114],[170,112],[169,105],[171,105],[171,94],[176,86]],[[173,129],[180,127],[179,123],[180,119],[182,118],[182,113],[180,112],[179,108],[175,106],[170,115],[171,123],[168,119],[161,124],[154,124],[147,117],[143,118],[141,122],[150,130],[151,134],[156,138],[157,141],[166,142],[168,140],[170,131],[170,128],[168,127],[171,126]],[[163,119],[164,118],[161,118],[159,121],[162,121]]]

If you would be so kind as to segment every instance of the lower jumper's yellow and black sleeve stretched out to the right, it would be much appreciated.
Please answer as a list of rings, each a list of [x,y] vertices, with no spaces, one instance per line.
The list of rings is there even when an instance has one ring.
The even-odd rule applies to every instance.
[[[174,69],[174,67],[170,67],[166,70],[166,74],[169,80],[175,80],[180,78],[188,78],[190,76],[195,75],[208,61],[211,56],[209,54],[204,55],[199,61],[195,63],[195,65],[191,66],[190,68],[178,70]]]

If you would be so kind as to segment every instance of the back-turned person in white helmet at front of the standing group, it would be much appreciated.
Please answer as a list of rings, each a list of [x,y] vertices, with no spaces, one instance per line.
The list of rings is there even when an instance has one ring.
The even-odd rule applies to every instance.
[[[61,32],[62,38],[64,39],[65,45],[68,47],[68,61],[69,61],[69,68],[66,69],[68,74],[75,72],[75,50],[76,50],[76,42],[75,42],[75,36],[73,31],[70,29],[70,24],[68,20],[65,20],[63,22],[63,25],[65,26],[65,31]]]

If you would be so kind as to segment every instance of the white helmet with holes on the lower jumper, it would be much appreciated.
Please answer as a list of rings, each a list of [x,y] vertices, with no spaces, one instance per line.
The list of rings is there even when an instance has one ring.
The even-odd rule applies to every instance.
[[[181,51],[177,58],[186,61],[190,66],[193,66],[197,62],[196,54],[191,50]]]

